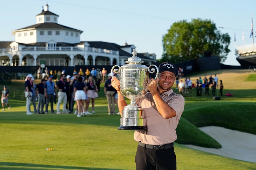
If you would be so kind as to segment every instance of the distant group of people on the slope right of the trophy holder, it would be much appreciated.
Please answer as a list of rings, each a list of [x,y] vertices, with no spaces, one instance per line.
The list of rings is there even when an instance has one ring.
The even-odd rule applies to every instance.
[[[210,75],[210,77],[207,79],[206,75],[204,75],[204,78],[202,79],[199,77],[196,79],[195,83],[192,82],[190,77],[186,77],[184,82],[183,80],[176,79],[176,89],[178,89],[179,93],[191,93],[192,89],[196,89],[196,96],[202,96],[202,93],[204,95],[209,96],[209,89],[211,90],[211,95],[214,97],[216,96],[216,89],[220,89],[220,95],[223,96],[223,83],[222,80],[218,80],[218,76],[215,74],[213,77]]]

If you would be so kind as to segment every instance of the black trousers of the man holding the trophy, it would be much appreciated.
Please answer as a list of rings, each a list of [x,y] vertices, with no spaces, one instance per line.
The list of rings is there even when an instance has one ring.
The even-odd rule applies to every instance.
[[[176,170],[174,147],[153,150],[138,146],[135,163],[136,170]]]

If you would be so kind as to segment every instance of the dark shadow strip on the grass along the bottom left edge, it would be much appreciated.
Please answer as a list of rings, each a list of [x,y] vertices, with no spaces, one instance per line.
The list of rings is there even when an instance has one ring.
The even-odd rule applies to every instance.
[[[42,164],[31,164],[31,163],[16,163],[16,162],[0,162],[0,170],[20,170],[24,167],[26,170],[47,170],[49,168],[54,169],[82,169],[82,170],[122,170],[122,169],[110,169],[110,168],[89,168],[89,167],[72,167],[72,166],[60,166],[60,165],[42,165]],[[40,168],[40,169],[39,169]]]

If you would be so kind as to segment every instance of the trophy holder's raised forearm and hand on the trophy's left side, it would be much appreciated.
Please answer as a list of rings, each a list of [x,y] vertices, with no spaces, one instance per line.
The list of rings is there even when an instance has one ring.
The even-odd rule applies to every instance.
[[[119,80],[116,79],[116,77],[114,76],[113,79],[111,79],[111,85],[116,89],[117,91],[117,105],[118,105],[118,109],[119,109],[119,112],[122,116],[122,110],[124,108],[124,106],[127,106],[127,103],[126,101],[124,100],[123,98],[123,95],[121,94],[121,91],[120,91],[120,82]]]

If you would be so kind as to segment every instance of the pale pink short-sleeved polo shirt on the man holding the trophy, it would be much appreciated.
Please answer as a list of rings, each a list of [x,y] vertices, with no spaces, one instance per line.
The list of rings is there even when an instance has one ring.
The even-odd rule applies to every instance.
[[[170,89],[161,94],[164,102],[176,111],[176,116],[164,119],[158,112],[151,93],[147,93],[139,99],[139,105],[142,107],[142,118],[146,118],[147,131],[135,131],[135,141],[141,141],[149,145],[164,145],[174,142],[177,139],[176,127],[184,110],[184,98],[182,95],[173,92]]]

